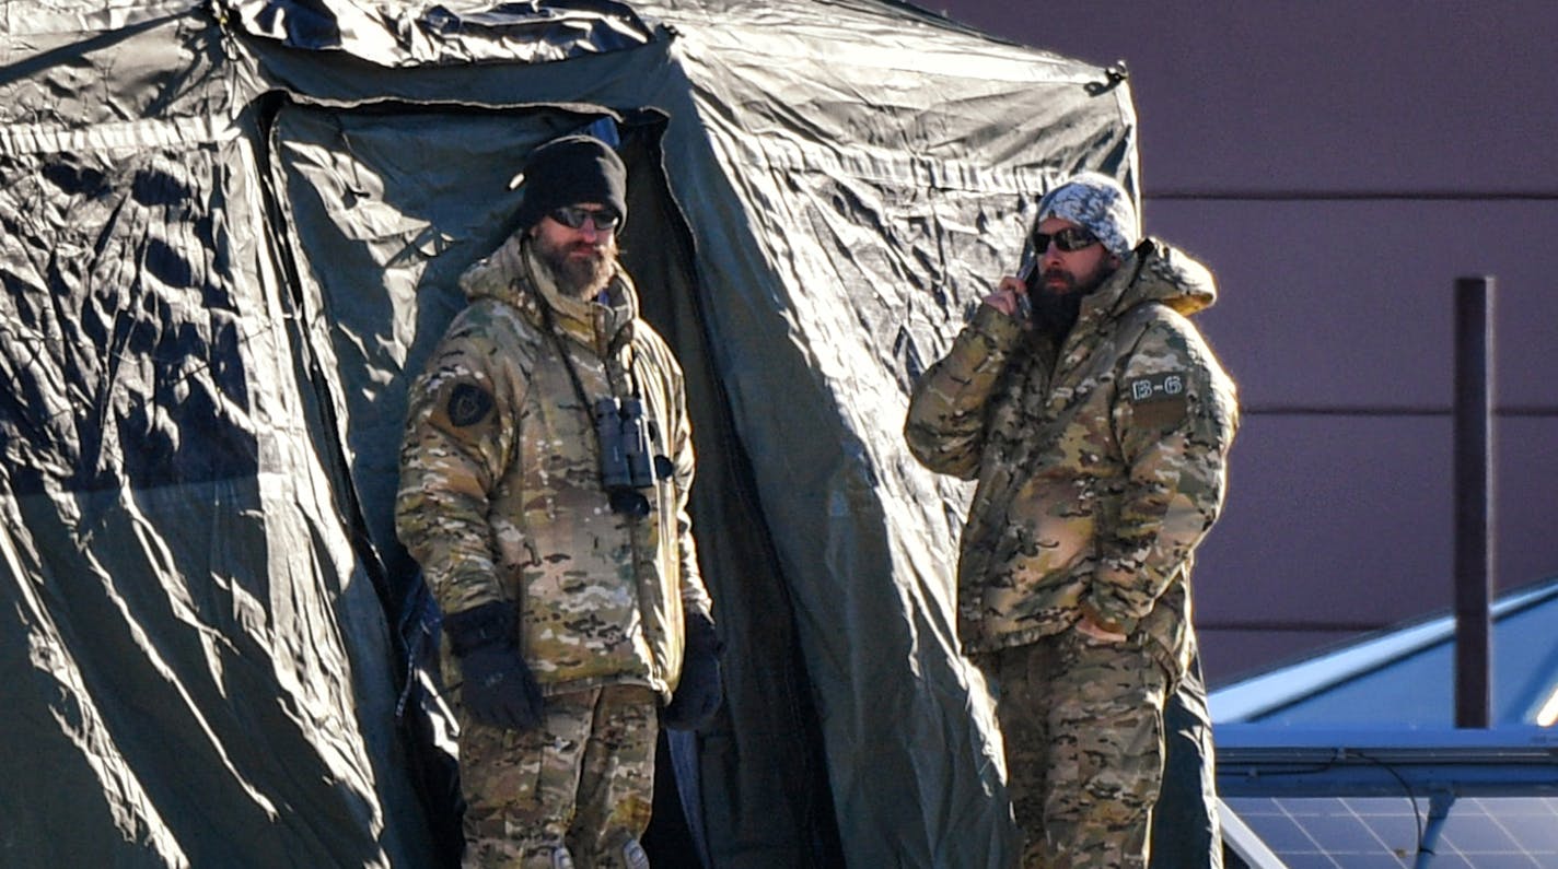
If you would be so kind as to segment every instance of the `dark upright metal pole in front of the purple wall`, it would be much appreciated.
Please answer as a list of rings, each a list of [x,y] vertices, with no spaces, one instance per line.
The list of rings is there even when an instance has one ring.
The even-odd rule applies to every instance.
[[[1455,726],[1493,715],[1493,285],[1455,280]]]

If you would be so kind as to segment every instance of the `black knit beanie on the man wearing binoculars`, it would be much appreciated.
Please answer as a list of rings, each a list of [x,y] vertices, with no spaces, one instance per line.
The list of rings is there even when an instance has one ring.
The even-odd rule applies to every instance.
[[[628,220],[628,170],[609,145],[594,135],[564,135],[530,153],[525,160],[519,229],[530,229],[550,212],[598,202]]]

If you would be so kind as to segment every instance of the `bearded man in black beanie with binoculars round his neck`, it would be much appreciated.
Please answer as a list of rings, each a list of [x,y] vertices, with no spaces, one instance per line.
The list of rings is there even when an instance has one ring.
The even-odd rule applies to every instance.
[[[396,526],[444,615],[464,866],[647,867],[659,724],[720,704],[682,374],[617,262],[625,182],[597,139],[538,148],[410,394]]]

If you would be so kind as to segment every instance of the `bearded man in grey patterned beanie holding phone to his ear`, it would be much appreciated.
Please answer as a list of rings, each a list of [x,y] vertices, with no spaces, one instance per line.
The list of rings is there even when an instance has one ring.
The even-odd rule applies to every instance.
[[[1030,274],[916,383],[905,436],[929,469],[978,481],[958,632],[997,698],[1024,866],[1142,867],[1234,385],[1189,319],[1215,299],[1211,273],[1139,241],[1114,179],[1049,192],[1028,245]]]

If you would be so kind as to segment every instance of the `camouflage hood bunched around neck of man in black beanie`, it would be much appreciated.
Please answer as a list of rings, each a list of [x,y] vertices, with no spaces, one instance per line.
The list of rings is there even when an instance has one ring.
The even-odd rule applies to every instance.
[[[633,338],[633,322],[639,316],[639,294],[619,265],[598,299],[580,301],[556,290],[550,269],[533,251],[523,230],[509,235],[497,251],[477,260],[460,276],[466,299],[494,299],[519,308],[536,325],[547,313],[562,335],[606,355],[611,347]]]

